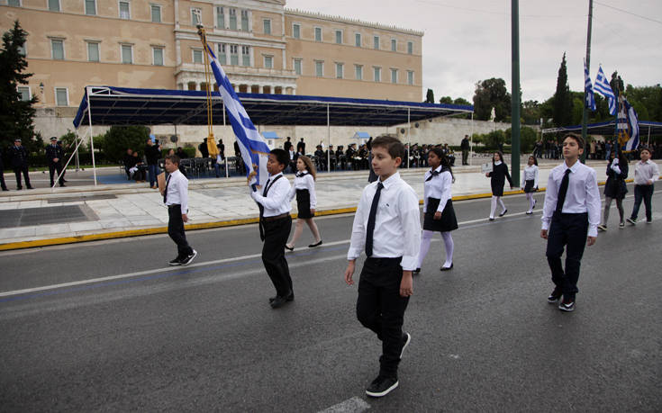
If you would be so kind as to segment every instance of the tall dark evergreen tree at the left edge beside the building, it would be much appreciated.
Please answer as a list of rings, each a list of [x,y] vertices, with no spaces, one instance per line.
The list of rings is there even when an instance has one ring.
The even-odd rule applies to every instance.
[[[30,152],[41,152],[43,140],[35,139],[34,108],[37,98],[22,101],[18,93],[19,85],[27,85],[32,73],[23,73],[28,62],[23,55],[23,47],[28,33],[18,21],[3,34],[3,48],[0,50],[0,145],[7,148],[14,139],[23,140],[23,146]]]

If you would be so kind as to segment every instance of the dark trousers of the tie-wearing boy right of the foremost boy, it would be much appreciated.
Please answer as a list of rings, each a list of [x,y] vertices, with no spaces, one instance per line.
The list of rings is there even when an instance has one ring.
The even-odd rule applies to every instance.
[[[564,298],[574,299],[579,279],[586,237],[588,235],[588,214],[554,213],[547,240],[547,262],[552,274],[552,282],[563,292]],[[561,265],[563,249],[566,248],[566,269]]]

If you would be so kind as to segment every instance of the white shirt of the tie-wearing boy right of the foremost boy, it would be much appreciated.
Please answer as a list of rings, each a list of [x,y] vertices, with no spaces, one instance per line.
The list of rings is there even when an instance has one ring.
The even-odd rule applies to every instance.
[[[567,165],[555,167],[549,173],[547,189],[545,191],[545,204],[542,207],[542,229],[549,229],[552,215],[557,209],[558,188],[561,186],[563,175],[566,174]],[[585,166],[579,161],[570,168],[568,175],[566,201],[563,202],[563,213],[588,212],[588,236],[597,237],[598,224],[600,224],[600,191],[595,175],[595,169]]]

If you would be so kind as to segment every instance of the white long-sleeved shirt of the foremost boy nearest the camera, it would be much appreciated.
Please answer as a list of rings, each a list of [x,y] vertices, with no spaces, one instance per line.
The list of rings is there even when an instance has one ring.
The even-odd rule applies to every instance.
[[[357,259],[366,246],[367,219],[375,197],[377,183],[367,184],[361,193],[351,229],[348,260]],[[416,193],[396,172],[383,183],[379,196],[373,232],[373,257],[403,257],[404,270],[416,269],[421,247],[421,213]]]

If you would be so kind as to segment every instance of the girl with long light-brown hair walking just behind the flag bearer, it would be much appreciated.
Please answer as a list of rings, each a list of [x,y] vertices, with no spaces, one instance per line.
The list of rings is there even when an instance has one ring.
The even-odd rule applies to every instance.
[[[301,237],[304,232],[304,222],[313,232],[315,242],[309,245],[309,248],[319,247],[322,245],[322,237],[320,231],[315,225],[313,217],[315,216],[315,207],[317,206],[317,197],[315,196],[315,166],[310,157],[300,155],[296,159],[297,173],[295,175],[295,184],[290,190],[290,201],[296,196],[296,205],[298,207],[298,215],[295,225],[295,234],[292,236],[290,242],[285,247],[290,251],[295,250],[296,240]]]

